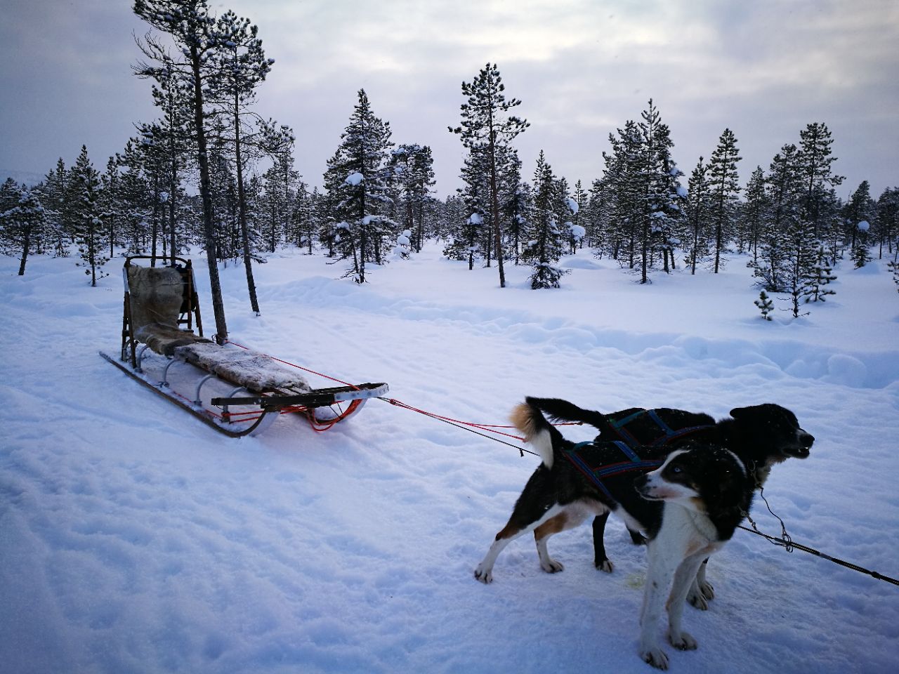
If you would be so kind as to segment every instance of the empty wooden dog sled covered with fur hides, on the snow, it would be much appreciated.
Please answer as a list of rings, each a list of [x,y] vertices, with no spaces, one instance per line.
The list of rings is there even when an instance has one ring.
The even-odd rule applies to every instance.
[[[215,430],[232,438],[258,435],[286,413],[327,430],[359,412],[369,398],[387,393],[384,383],[334,380],[343,386],[313,388],[301,372],[305,368],[205,338],[191,261],[140,263],[149,260],[125,260],[120,354],[100,355]]]

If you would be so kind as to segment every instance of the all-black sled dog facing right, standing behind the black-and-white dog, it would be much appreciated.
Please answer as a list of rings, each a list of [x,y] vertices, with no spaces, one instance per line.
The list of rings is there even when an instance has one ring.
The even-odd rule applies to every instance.
[[[645,410],[631,408],[619,412],[601,413],[585,410],[558,398],[529,398],[553,421],[579,421],[599,431],[597,443],[626,441],[631,447],[645,445],[644,456],[661,459],[687,442],[711,443],[730,449],[749,469],[757,489],[761,489],[770,474],[771,467],[790,457],[807,458],[814,443],[814,436],[799,426],[796,414],[778,404],[761,404],[737,407],[730,418],[715,421],[708,414],[685,410]],[[596,568],[611,572],[613,564],[606,554],[603,541],[609,512],[593,519],[593,562]],[[645,542],[638,528],[628,526],[636,544]],[[546,539],[538,542],[538,553],[546,551]],[[708,560],[707,560],[708,561]],[[541,566],[544,569],[543,557]],[[556,563],[561,571],[562,565]],[[549,571],[549,569],[547,569]],[[708,608],[715,590],[706,581],[706,564],[699,566],[696,581],[692,583],[688,601],[701,610]]]

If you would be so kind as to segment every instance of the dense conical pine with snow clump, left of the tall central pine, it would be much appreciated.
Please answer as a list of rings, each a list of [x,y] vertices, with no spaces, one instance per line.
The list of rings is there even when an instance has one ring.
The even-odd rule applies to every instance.
[[[387,157],[393,146],[390,122],[375,116],[364,90],[360,89],[358,96],[341,144],[328,163],[332,173],[325,173],[325,187],[339,199],[334,219],[341,230],[340,248],[344,259],[352,261],[346,276],[364,283],[365,263],[380,264],[382,247],[386,237],[396,231],[396,222],[387,216],[392,206],[387,196]],[[339,181],[340,175],[343,182],[334,181],[334,176]],[[328,182],[329,176],[334,182]]]

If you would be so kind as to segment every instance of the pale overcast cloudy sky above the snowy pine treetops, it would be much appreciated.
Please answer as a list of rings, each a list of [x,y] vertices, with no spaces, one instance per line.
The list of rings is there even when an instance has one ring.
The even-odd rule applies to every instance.
[[[461,83],[496,63],[530,178],[539,151],[585,187],[609,135],[650,98],[688,176],[732,129],[743,182],[823,122],[846,198],[899,185],[895,0],[212,0],[259,26],[275,59],[256,110],[294,129],[297,169],[320,185],[364,89],[395,143],[431,146],[441,197],[458,188]],[[47,173],[85,144],[102,169],[156,117],[132,74],[149,26],[127,0],[5,0],[0,23],[0,173]],[[683,179],[686,183],[686,177]]]

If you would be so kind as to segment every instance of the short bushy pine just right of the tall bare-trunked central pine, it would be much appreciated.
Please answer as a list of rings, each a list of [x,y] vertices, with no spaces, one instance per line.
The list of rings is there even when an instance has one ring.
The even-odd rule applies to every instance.
[[[522,257],[534,268],[530,275],[531,288],[558,288],[559,279],[568,271],[556,267],[556,262],[565,251],[568,235],[559,224],[559,213],[567,208],[567,189],[564,182],[556,180],[542,150],[534,170],[533,190],[533,214],[529,218],[530,242]]]

